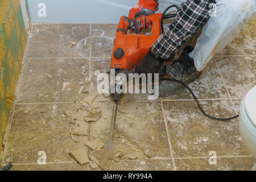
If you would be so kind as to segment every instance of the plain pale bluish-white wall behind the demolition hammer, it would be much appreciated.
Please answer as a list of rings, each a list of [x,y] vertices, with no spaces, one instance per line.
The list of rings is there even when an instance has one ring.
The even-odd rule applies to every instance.
[[[23,1],[23,0],[22,0]],[[170,1],[180,4],[184,0],[160,0],[159,12],[170,6]],[[118,23],[128,15],[138,0],[27,0],[31,22],[36,23]],[[38,11],[39,3],[46,5],[46,16]]]

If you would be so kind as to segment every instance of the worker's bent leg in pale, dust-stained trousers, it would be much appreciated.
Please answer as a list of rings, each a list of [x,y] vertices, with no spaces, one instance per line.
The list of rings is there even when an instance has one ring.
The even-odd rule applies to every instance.
[[[216,3],[217,16],[208,19],[194,51],[188,54],[194,59],[197,71],[202,71],[215,53],[245,29],[256,10],[255,0],[216,0]]]

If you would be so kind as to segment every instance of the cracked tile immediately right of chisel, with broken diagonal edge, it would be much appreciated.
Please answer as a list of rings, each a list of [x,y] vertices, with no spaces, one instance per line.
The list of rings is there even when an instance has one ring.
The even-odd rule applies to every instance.
[[[151,158],[171,157],[160,102],[124,100],[118,111],[116,129],[127,140]]]

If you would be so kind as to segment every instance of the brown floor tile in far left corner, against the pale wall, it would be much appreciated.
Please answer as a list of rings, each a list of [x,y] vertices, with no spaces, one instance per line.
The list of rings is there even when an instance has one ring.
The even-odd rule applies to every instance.
[[[27,57],[80,57],[76,46],[89,36],[89,24],[35,24]],[[89,56],[89,52],[86,56]]]

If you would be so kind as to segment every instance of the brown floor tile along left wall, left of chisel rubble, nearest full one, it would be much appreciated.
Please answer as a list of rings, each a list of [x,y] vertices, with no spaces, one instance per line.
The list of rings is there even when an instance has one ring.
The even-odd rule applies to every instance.
[[[63,111],[76,112],[74,105],[17,105],[7,146],[6,159],[13,155],[14,163],[37,163],[38,152],[45,151],[46,162],[70,162],[68,152],[84,147],[71,138],[71,117],[63,118]],[[81,126],[89,134],[88,125]],[[88,140],[82,136],[76,140]],[[87,147],[85,147],[87,148]]]

